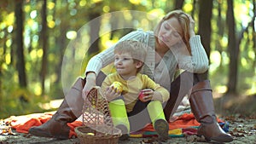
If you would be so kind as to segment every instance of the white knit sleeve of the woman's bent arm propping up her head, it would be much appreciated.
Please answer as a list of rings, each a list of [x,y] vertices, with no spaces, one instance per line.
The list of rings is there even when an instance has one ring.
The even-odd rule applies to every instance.
[[[179,44],[172,49],[172,53],[176,56],[180,69],[203,73],[209,68],[209,60],[204,47],[201,44],[201,37],[196,35],[189,39],[192,56],[187,50],[182,50],[183,44]]]

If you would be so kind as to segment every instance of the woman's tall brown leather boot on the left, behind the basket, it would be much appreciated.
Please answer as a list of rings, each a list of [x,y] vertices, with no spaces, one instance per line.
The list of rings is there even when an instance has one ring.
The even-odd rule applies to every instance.
[[[46,123],[32,127],[29,133],[36,136],[55,137],[57,139],[68,139],[69,126],[82,114],[83,102],[82,90],[84,88],[84,79],[79,78],[69,90],[61,106],[55,114]]]

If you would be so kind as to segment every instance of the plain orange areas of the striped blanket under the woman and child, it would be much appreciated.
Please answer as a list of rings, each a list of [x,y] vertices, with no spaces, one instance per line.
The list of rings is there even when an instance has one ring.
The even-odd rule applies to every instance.
[[[29,114],[25,116],[12,116],[10,118],[6,118],[4,121],[5,123],[8,122],[11,124],[11,127],[15,129],[19,133],[28,133],[28,130],[32,126],[38,126],[44,124],[55,112],[44,112],[44,113],[35,113]],[[218,119],[218,122],[223,122],[222,120]],[[81,126],[82,122],[77,120],[73,123],[67,124],[71,129],[69,133],[69,137],[77,136],[74,132],[74,128],[77,126]],[[169,129],[183,129],[189,128],[193,126],[199,126],[200,124],[195,120],[195,117],[192,113],[184,113],[183,115],[179,116],[175,121],[169,122]],[[154,131],[153,125],[148,124],[143,130],[141,131]]]

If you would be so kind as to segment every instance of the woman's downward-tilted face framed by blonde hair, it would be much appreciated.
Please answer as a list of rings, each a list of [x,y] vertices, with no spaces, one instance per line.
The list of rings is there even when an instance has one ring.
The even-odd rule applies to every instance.
[[[160,47],[172,47],[182,41],[182,28],[175,17],[163,21],[158,33]]]

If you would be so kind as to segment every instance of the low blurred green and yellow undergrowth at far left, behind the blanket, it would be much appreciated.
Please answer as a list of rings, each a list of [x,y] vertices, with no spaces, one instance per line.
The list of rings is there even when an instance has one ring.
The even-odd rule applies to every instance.
[[[8,71],[3,71],[1,89],[4,90],[0,94],[0,118],[32,112],[43,112],[37,104],[38,102],[45,101],[45,99],[33,94],[29,89],[20,88],[16,79],[17,75],[13,67],[10,66]]]

